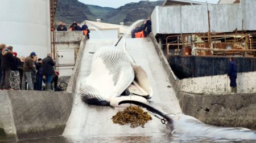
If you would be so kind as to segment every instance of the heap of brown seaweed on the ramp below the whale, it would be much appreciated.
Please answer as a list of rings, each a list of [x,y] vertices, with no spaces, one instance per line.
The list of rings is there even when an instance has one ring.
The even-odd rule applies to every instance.
[[[144,124],[148,120],[152,120],[148,112],[144,112],[139,106],[130,106],[123,111],[118,111],[112,117],[114,124],[125,125],[130,124],[131,128],[141,126],[144,128]]]

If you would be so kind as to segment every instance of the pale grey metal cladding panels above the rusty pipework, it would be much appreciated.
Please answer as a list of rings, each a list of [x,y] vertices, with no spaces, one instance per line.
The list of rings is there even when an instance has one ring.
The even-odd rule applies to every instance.
[[[210,29],[215,32],[255,31],[256,1],[243,0],[230,5],[209,5]],[[156,34],[208,32],[207,5],[156,6],[151,14]],[[154,21],[158,21],[155,23]]]

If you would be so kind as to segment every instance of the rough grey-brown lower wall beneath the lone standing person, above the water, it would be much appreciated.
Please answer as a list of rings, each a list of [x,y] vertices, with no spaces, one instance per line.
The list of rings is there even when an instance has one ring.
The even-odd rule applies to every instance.
[[[204,95],[179,93],[181,110],[201,122],[256,130],[256,94]]]

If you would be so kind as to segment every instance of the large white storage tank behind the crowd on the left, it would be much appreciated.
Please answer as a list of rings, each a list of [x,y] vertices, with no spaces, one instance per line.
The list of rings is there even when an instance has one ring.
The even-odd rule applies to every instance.
[[[11,45],[18,57],[51,51],[49,0],[1,0],[0,44]]]

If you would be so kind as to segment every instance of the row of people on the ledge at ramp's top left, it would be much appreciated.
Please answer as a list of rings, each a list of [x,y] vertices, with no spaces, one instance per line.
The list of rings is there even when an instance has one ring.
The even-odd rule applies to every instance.
[[[84,23],[84,25],[82,25],[82,27],[80,27],[76,21],[73,21],[72,25],[69,27],[70,31],[82,31],[82,33],[84,35],[87,36],[87,38],[90,38],[90,30],[88,28],[88,26],[86,25],[86,23]],[[59,25],[57,27],[57,31],[68,31],[67,27],[65,26],[65,23],[63,22],[59,22]]]

